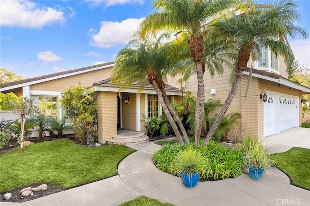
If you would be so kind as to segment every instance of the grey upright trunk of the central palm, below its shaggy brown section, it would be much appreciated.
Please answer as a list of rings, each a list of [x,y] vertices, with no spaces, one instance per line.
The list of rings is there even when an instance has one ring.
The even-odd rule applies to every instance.
[[[195,147],[198,147],[200,135],[202,132],[202,120],[204,116],[204,82],[202,60],[195,61],[197,71],[197,98],[196,98],[196,112],[195,112]]]

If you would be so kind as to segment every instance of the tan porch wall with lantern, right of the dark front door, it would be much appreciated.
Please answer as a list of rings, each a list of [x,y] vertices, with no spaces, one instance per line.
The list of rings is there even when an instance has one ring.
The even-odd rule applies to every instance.
[[[130,99],[129,104],[124,103],[126,96]],[[123,128],[136,131],[136,93],[122,93],[122,108]]]

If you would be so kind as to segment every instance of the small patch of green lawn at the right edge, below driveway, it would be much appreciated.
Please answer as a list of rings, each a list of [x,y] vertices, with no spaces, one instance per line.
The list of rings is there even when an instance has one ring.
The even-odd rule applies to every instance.
[[[293,147],[282,153],[272,154],[275,165],[290,177],[291,184],[310,190],[310,149]]]

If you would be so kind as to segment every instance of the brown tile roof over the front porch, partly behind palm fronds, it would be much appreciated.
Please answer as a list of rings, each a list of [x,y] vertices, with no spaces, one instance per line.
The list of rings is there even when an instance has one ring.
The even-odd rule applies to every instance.
[[[99,82],[95,82],[93,83],[93,86],[100,86],[100,87],[113,87],[113,88],[120,88],[120,86],[116,85],[116,84],[113,84],[113,85],[110,85],[111,83],[111,79],[108,78],[108,79],[103,79]],[[131,83],[130,86],[126,87],[126,88],[134,88],[134,89],[139,89],[139,84],[137,81],[134,81],[133,83]],[[150,84],[147,84],[144,86],[144,89],[147,89],[147,90],[154,90],[153,86],[150,85]],[[179,88],[176,88],[176,87],[173,87],[169,84],[166,84],[165,86],[165,90],[166,91],[176,91],[176,92],[181,92],[181,90]]]

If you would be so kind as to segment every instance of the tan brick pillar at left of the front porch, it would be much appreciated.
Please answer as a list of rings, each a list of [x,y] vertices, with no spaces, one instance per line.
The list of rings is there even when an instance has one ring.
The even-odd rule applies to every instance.
[[[98,141],[105,143],[117,134],[117,92],[99,91],[98,101]]]

